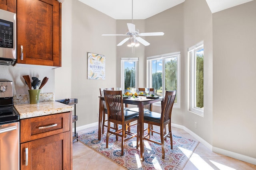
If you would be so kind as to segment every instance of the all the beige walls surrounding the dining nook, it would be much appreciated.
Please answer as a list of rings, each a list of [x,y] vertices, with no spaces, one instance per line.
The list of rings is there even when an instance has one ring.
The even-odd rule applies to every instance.
[[[99,88],[120,87],[121,57],[139,57],[139,86],[146,86],[146,57],[180,51],[181,107],[173,109],[172,123],[183,125],[217,151],[256,158],[252,90],[256,84],[255,3],[212,14],[205,0],[186,0],[146,20],[134,20],[140,32],[163,31],[165,35],[144,37],[150,46],[141,45],[133,56],[126,45],[116,47],[124,37],[101,36],[124,33],[131,20],[114,20],[78,0],[65,0],[62,68],[55,71],[56,99],[78,98],[77,126],[97,122]],[[202,40],[204,117],[188,111],[187,49]],[[87,80],[87,52],[106,55],[106,80]],[[237,89],[242,89],[242,94],[234,95]],[[160,107],[153,109],[160,111]]]

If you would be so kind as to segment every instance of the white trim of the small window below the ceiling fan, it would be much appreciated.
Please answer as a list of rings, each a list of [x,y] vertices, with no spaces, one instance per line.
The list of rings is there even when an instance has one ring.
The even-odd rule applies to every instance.
[[[135,88],[138,88],[138,76],[139,76],[139,58],[121,58],[121,88],[124,90],[124,62],[125,61],[137,61],[135,62]]]

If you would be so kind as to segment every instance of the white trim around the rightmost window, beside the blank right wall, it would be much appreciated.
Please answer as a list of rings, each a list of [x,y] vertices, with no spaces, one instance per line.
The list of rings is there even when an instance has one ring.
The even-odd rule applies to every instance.
[[[196,71],[196,60],[195,60],[195,52],[204,48],[204,41],[200,41],[198,44],[188,48],[188,75],[189,75],[189,106],[188,110],[192,113],[200,115],[204,117],[204,108],[199,108],[195,106],[196,95],[194,94],[196,91],[195,85],[195,71]]]

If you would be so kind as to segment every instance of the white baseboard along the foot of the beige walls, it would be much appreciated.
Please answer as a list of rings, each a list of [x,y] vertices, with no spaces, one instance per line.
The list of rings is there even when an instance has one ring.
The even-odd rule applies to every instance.
[[[94,123],[90,123],[88,125],[83,125],[83,126],[76,127],[76,130],[79,131],[79,130],[86,129],[88,127],[94,127],[94,126],[97,126],[97,125],[98,125],[98,122],[94,122]],[[229,156],[229,157],[232,157],[232,158],[242,160],[244,162],[248,162],[250,164],[256,165],[256,159],[255,158],[252,158],[252,157],[249,157],[249,156],[246,156],[246,155],[242,155],[242,154],[239,154],[239,153],[231,152],[229,150],[224,150],[224,149],[220,149],[220,148],[217,148],[217,147],[213,147],[212,145],[210,145],[210,143],[206,142],[200,136],[196,135],[196,133],[190,131],[190,129],[186,128],[183,125],[178,125],[178,124],[172,123],[172,127],[183,129],[184,131],[188,132],[190,135],[192,135],[194,138],[196,138],[196,140],[198,140],[200,143],[202,143],[204,146],[206,146],[208,149],[212,150],[213,152],[216,152],[216,153],[219,153],[219,154],[222,154],[222,155],[225,155],[225,156]],[[74,131],[74,128],[73,128],[73,131]]]

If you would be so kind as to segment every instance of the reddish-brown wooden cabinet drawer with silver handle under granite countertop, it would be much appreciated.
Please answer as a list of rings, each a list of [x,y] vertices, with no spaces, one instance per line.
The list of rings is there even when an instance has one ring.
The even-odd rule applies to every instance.
[[[70,112],[20,120],[20,143],[70,131]]]

